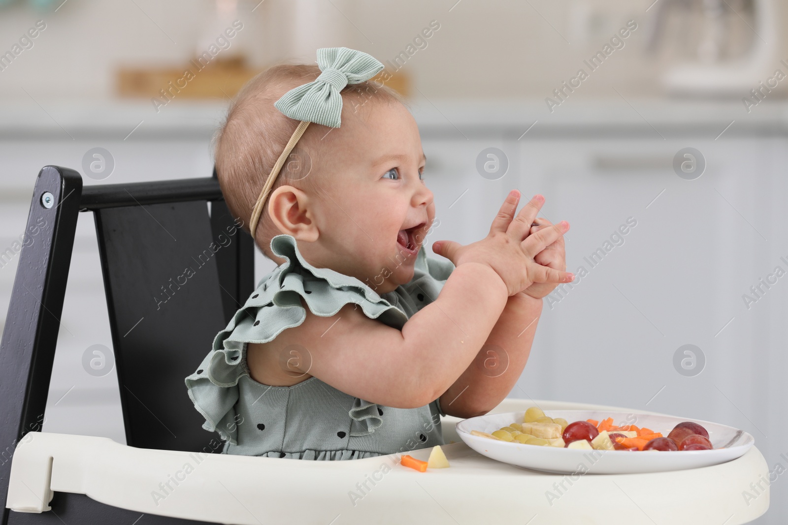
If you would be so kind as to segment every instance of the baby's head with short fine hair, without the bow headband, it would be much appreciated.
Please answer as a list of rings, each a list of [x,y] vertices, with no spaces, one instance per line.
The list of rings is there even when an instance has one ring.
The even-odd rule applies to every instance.
[[[247,231],[266,178],[299,124],[273,103],[320,73],[317,65],[262,72],[243,87],[217,132],[221,191]],[[396,91],[368,80],[341,95],[340,128],[309,124],[273,184],[255,242],[281,264],[271,238],[292,235],[316,268],[352,275],[382,294],[412,279],[433,222],[433,194],[422,180],[426,158]]]

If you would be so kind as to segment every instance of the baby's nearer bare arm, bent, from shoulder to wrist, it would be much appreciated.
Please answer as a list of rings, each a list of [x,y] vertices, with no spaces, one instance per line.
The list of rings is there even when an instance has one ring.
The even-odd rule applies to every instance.
[[[355,305],[331,317],[315,316],[307,307],[303,324],[272,342],[248,346],[249,368],[257,378],[264,363],[270,366],[288,346],[300,345],[310,355],[302,372],[366,401],[418,408],[468,368],[506,304],[507,287],[492,268],[460,264],[438,298],[402,331],[369,319]]]

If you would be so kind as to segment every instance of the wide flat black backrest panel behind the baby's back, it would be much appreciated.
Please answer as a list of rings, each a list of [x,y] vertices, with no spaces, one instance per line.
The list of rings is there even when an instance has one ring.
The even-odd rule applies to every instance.
[[[97,209],[95,219],[126,441],[205,449],[217,434],[200,429],[183,379],[225,327],[216,256],[232,244],[214,238],[206,201]]]

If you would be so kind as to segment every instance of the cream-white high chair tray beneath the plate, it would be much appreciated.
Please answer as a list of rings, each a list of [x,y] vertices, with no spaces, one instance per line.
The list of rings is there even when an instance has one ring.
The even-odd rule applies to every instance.
[[[494,412],[536,403],[549,409],[614,407],[505,400]],[[414,471],[398,455],[299,461],[136,449],[108,438],[31,432],[13,455],[7,506],[49,510],[52,491],[87,494],[143,514],[239,525],[263,523],[748,523],[767,511],[768,489],[742,490],[768,476],[753,446],[736,460],[682,471],[551,475],[500,463],[470,449],[445,418],[450,468]],[[426,460],[429,449],[411,451]]]

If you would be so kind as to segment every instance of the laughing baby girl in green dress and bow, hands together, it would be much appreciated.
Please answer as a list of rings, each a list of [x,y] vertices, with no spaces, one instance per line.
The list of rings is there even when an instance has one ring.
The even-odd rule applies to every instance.
[[[537,219],[541,195],[515,213],[517,190],[485,238],[426,257],[426,157],[400,95],[370,81],[382,68],[344,47],[269,68],[217,135],[227,205],[279,264],[186,378],[224,453],[346,460],[443,444],[441,415],[484,414],[511,391],[542,298],[574,279],[569,225]]]

